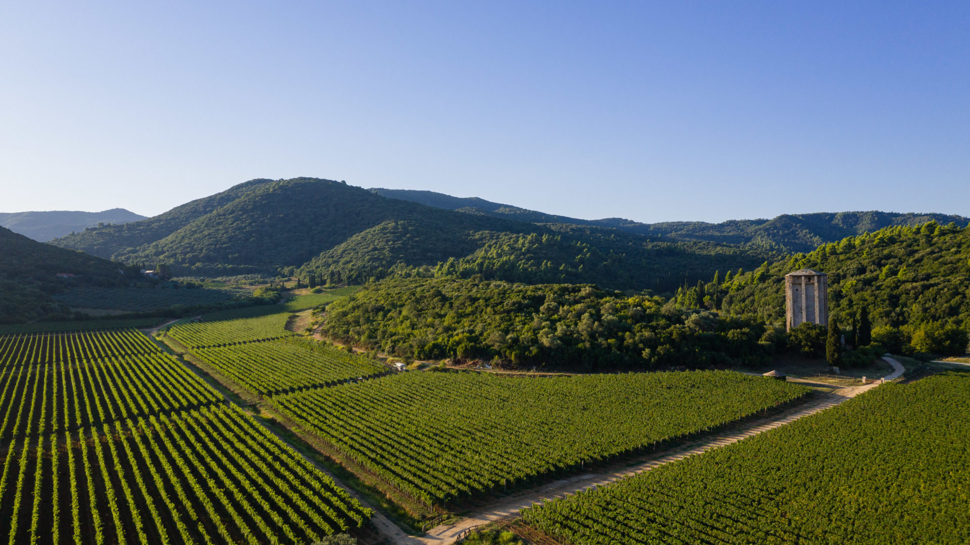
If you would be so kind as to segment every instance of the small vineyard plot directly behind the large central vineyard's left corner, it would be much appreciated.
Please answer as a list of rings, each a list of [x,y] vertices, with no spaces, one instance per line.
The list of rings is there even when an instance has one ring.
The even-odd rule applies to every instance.
[[[192,352],[257,395],[327,386],[385,370],[360,356],[299,337],[195,348]]]

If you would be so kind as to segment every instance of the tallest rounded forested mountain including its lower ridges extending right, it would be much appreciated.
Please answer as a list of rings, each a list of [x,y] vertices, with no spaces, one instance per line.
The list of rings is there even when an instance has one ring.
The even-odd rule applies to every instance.
[[[317,178],[251,180],[154,218],[53,243],[201,274],[282,268],[324,282],[363,282],[420,268],[428,274],[446,263],[445,272],[460,276],[658,291],[763,261],[757,252],[706,242],[426,207]]]

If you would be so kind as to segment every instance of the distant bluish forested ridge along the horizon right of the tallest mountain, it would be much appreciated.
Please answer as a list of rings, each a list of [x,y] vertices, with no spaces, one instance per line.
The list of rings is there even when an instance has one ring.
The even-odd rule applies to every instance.
[[[547,214],[478,199],[459,198],[434,191],[372,188],[389,197],[436,208],[508,217],[534,223],[571,223],[612,227],[628,233],[663,236],[671,240],[705,240],[734,244],[777,254],[812,251],[819,244],[870,233],[893,225],[915,226],[927,221],[966,225],[970,218],[938,213],[898,213],[882,211],[818,212],[784,214],[774,219],[730,220],[723,223],[672,221],[640,223],[623,218],[579,219]]]

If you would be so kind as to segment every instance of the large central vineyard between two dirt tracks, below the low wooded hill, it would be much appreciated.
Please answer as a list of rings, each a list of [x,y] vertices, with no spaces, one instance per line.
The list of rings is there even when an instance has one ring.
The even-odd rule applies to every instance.
[[[433,504],[651,448],[808,392],[727,371],[410,372],[272,403],[405,495]]]

